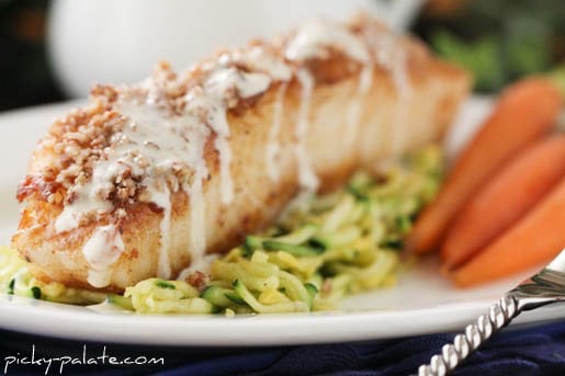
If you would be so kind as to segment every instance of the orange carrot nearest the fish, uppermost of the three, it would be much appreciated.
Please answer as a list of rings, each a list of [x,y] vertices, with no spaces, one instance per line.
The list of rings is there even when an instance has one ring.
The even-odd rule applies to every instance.
[[[560,91],[547,79],[528,78],[506,89],[494,113],[456,160],[438,197],[419,216],[408,251],[437,249],[468,197],[501,164],[547,132],[561,104]]]

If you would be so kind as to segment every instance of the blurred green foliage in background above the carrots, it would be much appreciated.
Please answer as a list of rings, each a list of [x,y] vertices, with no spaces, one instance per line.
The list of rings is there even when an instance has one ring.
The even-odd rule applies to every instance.
[[[495,92],[565,59],[564,0],[430,0],[414,32]]]

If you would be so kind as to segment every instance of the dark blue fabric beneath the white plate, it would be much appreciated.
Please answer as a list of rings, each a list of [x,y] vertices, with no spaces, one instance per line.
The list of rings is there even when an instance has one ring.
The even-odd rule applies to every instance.
[[[35,343],[43,353],[79,353],[82,343],[53,339],[19,338],[1,333],[0,352],[24,354]],[[450,342],[453,334],[432,334],[387,341],[259,349],[159,349],[108,345],[115,356],[159,355],[165,366],[101,367],[69,365],[64,374],[75,375],[409,375]],[[26,342],[29,341],[29,343]],[[89,352],[102,344],[89,343]],[[48,346],[47,351],[45,346]],[[31,350],[27,350],[30,352]],[[61,353],[63,352],[63,353]],[[39,356],[39,355],[37,355]],[[2,364],[3,367],[3,364]],[[2,372],[3,369],[0,369]],[[9,375],[44,374],[37,366],[11,366]],[[52,369],[52,375],[58,369]],[[453,375],[565,375],[565,321],[505,330],[477,351]]]

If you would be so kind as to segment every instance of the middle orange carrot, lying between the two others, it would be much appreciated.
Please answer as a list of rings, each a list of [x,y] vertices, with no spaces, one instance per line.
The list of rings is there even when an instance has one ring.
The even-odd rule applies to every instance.
[[[441,249],[443,267],[467,261],[519,220],[563,176],[565,135],[544,138],[513,158],[457,215]]]

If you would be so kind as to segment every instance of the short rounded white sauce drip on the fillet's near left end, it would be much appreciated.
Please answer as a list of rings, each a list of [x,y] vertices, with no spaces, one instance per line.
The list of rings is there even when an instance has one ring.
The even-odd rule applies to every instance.
[[[82,254],[89,263],[88,283],[93,287],[110,284],[112,265],[124,251],[124,241],[114,225],[101,226],[82,248]]]

